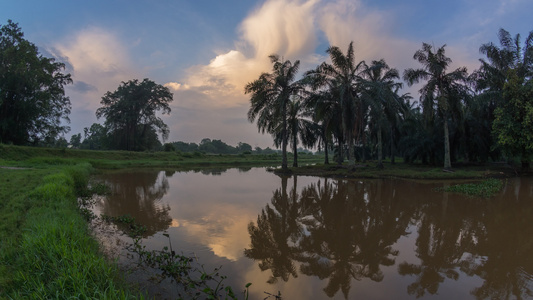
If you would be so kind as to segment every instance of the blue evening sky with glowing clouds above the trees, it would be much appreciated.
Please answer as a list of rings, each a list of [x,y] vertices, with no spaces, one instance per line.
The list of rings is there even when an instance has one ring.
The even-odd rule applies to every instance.
[[[174,94],[167,142],[220,139],[273,147],[247,119],[244,86],[270,72],[268,56],[300,60],[300,75],[344,53],[385,59],[403,74],[413,54],[446,45],[450,70],[479,68],[479,47],[498,45],[504,28],[522,41],[533,30],[531,0],[0,0],[0,25],[12,20],[44,56],[65,63],[73,84],[71,131],[97,119],[102,96],[149,78]],[[416,87],[404,88],[418,99]]]

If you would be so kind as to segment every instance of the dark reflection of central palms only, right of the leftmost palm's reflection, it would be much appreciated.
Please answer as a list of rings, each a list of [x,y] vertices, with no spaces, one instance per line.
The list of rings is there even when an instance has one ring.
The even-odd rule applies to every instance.
[[[380,265],[395,262],[398,251],[391,245],[405,234],[409,218],[400,218],[394,209],[383,207],[379,195],[365,200],[370,187],[380,182],[337,181],[333,186],[325,181],[324,187],[319,182],[308,188],[320,209],[315,210],[316,226],[308,227],[310,234],[301,243],[306,253],[312,253],[305,259],[302,273],[329,277],[324,291],[330,297],[341,289],[347,298],[352,278],[383,280]]]

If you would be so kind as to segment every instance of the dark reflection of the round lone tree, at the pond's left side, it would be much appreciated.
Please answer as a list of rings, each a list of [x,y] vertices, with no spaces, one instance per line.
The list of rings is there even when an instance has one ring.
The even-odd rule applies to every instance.
[[[158,203],[169,188],[165,172],[116,173],[105,178],[111,195],[102,203],[103,214],[131,215],[146,226],[145,237],[170,226],[170,207]]]

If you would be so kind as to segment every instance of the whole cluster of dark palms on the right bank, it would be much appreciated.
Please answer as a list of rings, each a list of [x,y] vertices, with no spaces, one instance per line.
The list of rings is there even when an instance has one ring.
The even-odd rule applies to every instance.
[[[272,55],[272,72],[245,86],[251,101],[248,119],[281,146],[282,168],[287,168],[289,144],[297,166],[298,143],[323,149],[326,164],[330,149],[335,150],[337,163],[347,156],[351,166],[356,159],[364,161],[368,149],[375,150],[378,167],[383,167],[385,151],[392,162],[400,155],[407,162],[443,163],[445,169],[458,159],[497,160],[504,154],[529,164],[533,145],[528,141],[533,133],[531,139],[527,128],[510,133],[525,135],[519,145],[508,142],[513,145],[506,146],[502,141],[509,136],[505,120],[517,120],[505,109],[507,98],[518,93],[523,110],[532,108],[529,115],[521,116],[520,126],[527,127],[527,120],[533,120],[533,99],[528,96],[533,87],[533,31],[524,48],[520,35],[512,38],[504,29],[499,39],[500,47],[481,46],[487,60],[481,59],[481,67],[472,74],[465,67],[450,71],[446,45],[436,48],[426,43],[413,56],[420,68],[405,70],[403,78],[384,59],[357,62],[353,43],[346,53],[329,47],[331,62],[323,62],[298,80],[300,61]],[[512,76],[518,77],[517,83],[506,92]],[[401,94],[401,79],[409,86],[422,84],[419,101],[411,101],[409,93]],[[385,150],[384,145],[390,147]]]

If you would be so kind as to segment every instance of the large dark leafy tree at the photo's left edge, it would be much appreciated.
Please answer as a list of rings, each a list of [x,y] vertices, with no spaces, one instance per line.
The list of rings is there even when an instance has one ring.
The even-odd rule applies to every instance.
[[[24,39],[17,23],[0,27],[0,142],[39,144],[70,130],[70,99],[64,86],[72,83],[65,65],[39,54]]]

